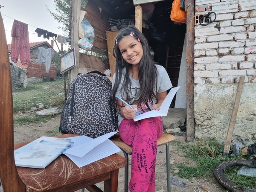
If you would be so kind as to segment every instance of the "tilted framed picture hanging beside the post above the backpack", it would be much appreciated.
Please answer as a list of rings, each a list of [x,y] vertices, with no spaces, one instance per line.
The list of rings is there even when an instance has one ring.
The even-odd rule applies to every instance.
[[[64,73],[76,66],[75,49],[70,49],[68,52],[61,55],[61,73]]]

